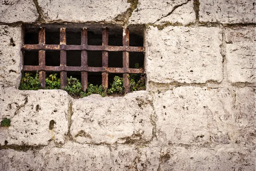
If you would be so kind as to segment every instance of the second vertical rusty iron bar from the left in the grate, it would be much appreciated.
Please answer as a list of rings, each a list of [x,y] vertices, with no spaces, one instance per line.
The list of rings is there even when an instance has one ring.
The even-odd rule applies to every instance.
[[[66,28],[60,28],[60,44],[66,44]],[[67,66],[67,52],[61,50],[60,52],[61,66]],[[61,89],[67,86],[67,71],[61,71]]]

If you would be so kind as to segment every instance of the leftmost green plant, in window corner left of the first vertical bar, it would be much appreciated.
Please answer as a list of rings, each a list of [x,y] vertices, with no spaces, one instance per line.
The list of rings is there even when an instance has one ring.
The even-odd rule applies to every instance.
[[[36,74],[33,73],[22,73],[21,81],[20,81],[20,90],[38,90],[41,88],[39,82],[38,72]]]

